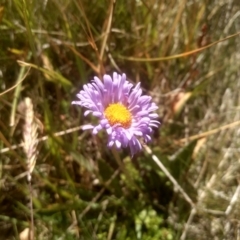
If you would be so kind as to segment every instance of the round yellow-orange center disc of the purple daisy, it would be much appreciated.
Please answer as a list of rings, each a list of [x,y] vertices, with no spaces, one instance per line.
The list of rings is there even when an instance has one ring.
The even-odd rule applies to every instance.
[[[120,124],[124,128],[129,128],[131,126],[132,114],[121,103],[110,104],[105,109],[104,115],[111,126],[115,124]]]

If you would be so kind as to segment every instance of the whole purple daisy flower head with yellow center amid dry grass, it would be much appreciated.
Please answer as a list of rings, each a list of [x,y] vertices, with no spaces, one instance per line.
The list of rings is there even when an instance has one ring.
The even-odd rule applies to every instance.
[[[140,83],[135,87],[126,80],[126,75],[113,73],[103,76],[103,82],[94,77],[92,83],[85,84],[77,94],[79,101],[73,101],[87,108],[84,116],[92,113],[99,118],[96,126],[85,125],[83,130],[92,129],[93,134],[105,129],[108,146],[130,147],[132,156],[142,149],[140,138],[146,143],[151,141],[152,127],[160,122],[154,113],[158,106],[150,96],[142,96]]]

